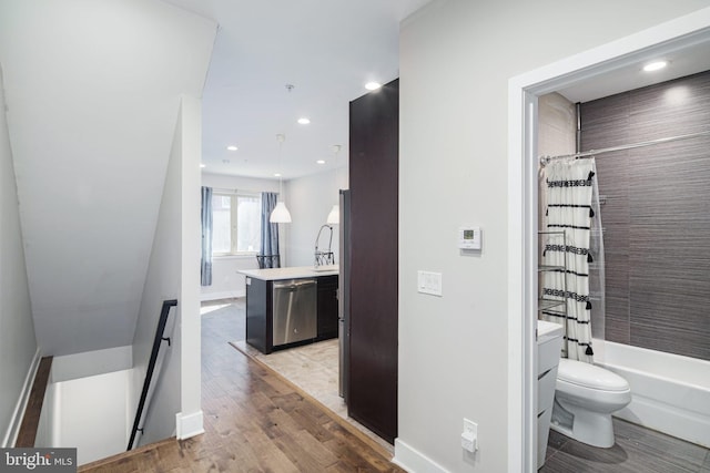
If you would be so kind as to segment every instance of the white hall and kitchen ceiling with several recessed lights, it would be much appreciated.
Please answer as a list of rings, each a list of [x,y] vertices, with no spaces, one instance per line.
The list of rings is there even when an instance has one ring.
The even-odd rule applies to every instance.
[[[164,1],[220,25],[203,95],[203,172],[284,179],[347,163],[349,101],[366,82],[398,76],[399,22],[429,2]]]

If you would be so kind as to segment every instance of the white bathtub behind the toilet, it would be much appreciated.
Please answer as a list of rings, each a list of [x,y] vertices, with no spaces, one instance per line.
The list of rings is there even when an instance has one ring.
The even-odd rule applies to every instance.
[[[595,364],[623,377],[631,403],[613,415],[710,448],[710,361],[592,340]]]

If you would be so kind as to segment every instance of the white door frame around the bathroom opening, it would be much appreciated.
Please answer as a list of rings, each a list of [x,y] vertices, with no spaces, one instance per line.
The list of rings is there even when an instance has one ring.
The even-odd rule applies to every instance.
[[[710,45],[710,8],[526,72],[508,82],[510,473],[535,472],[537,461],[537,99],[575,82],[700,43]]]

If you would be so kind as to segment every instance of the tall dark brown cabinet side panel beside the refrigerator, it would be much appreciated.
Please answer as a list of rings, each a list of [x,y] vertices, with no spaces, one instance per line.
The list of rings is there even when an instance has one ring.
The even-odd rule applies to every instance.
[[[349,415],[397,436],[399,80],[351,102]]]

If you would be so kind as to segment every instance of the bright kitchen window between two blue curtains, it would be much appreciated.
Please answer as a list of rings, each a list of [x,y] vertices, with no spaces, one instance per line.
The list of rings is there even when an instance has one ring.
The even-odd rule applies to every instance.
[[[261,249],[260,194],[212,194],[212,254],[256,254]]]

